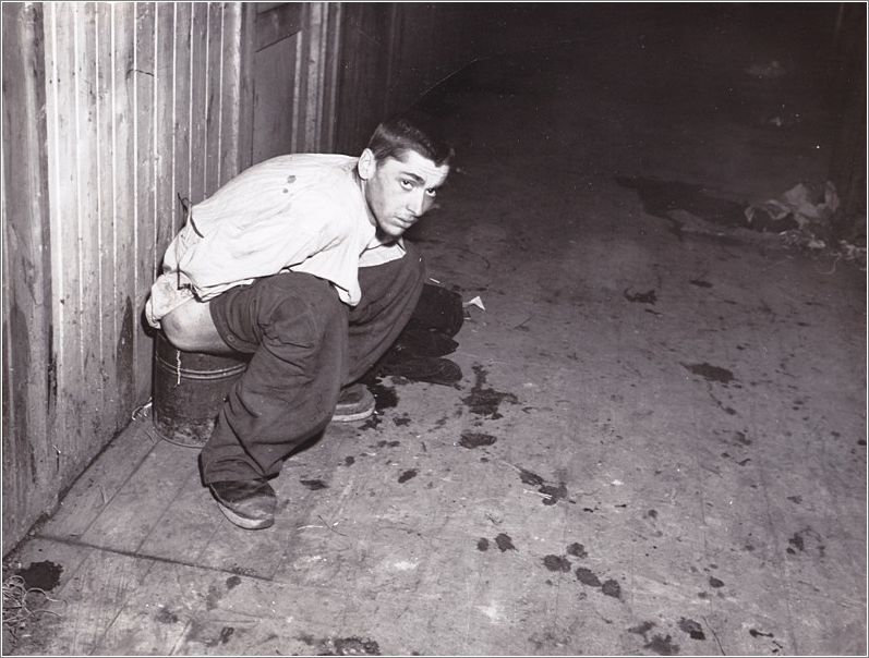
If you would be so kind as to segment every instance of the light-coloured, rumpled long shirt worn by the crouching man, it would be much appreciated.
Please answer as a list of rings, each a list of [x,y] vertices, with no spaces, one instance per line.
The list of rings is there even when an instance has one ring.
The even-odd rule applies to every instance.
[[[145,305],[148,322],[184,302],[207,301],[280,271],[307,272],[355,306],[358,269],[401,258],[401,240],[382,242],[355,176],[358,158],[279,156],[246,169],[191,208],[169,244]]]

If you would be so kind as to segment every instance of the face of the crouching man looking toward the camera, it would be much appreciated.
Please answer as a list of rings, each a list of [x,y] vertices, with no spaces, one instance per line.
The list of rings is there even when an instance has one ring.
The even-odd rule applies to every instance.
[[[375,226],[389,237],[400,237],[432,207],[448,173],[448,164],[435,164],[414,150],[377,163],[365,180]]]

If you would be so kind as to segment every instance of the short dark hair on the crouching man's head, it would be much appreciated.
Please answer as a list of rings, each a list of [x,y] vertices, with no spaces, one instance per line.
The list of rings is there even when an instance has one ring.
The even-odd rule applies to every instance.
[[[432,118],[419,111],[401,112],[381,123],[369,148],[378,163],[386,158],[400,158],[407,150],[415,150],[438,167],[452,156],[452,147]]]

